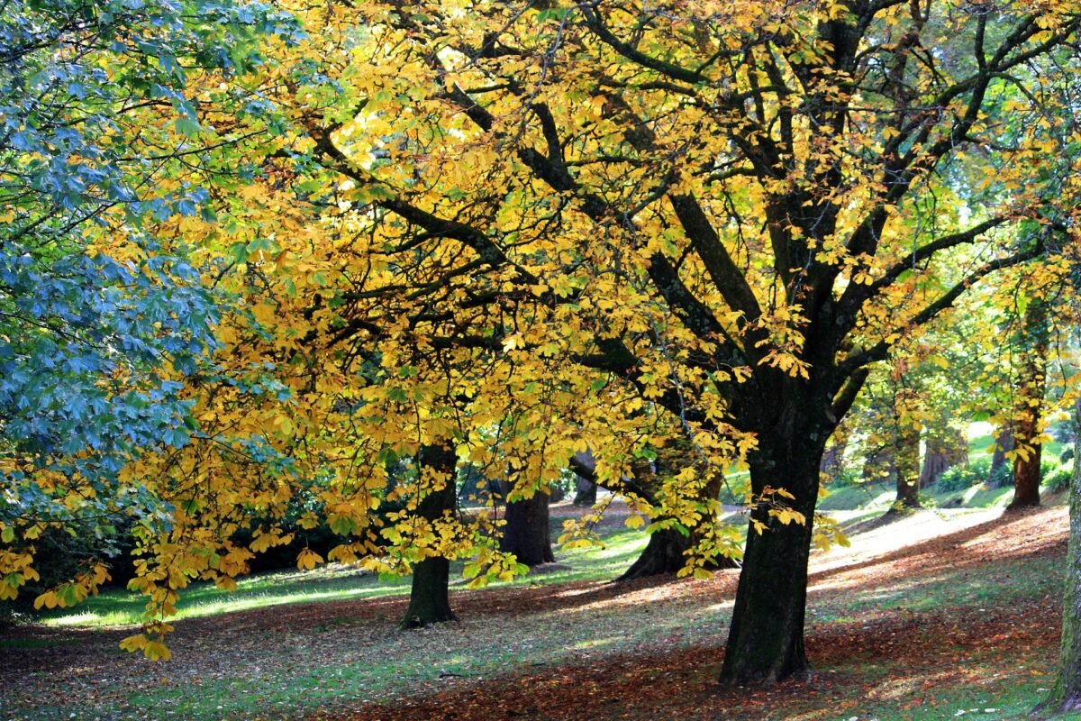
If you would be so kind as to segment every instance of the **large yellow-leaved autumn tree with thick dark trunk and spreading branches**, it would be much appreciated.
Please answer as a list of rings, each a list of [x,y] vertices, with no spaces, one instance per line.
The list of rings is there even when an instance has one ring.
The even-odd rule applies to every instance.
[[[652,528],[698,529],[725,473],[750,471],[724,679],[805,672],[819,463],[869,366],[969,289],[1023,264],[1060,275],[1071,253],[1073,3],[288,9],[304,36],[264,36],[245,85],[282,118],[244,145],[251,177],[214,186],[218,215],[190,224],[182,196],[197,189],[179,182],[156,218],[216,253],[242,298],[185,352],[218,344],[278,392],[229,374],[158,388],[185,388],[192,418],[295,472],[242,470],[258,458],[238,460],[240,440],[230,455],[177,439],[146,460],[133,478],[172,478],[176,504],[136,586],[168,607],[187,578],[228,585],[284,540],[302,492],[319,502],[305,522],[322,512],[343,537],[332,560],[469,557],[470,575],[511,574],[483,513],[416,512],[444,472],[399,483],[393,465],[453,449],[530,496],[590,451],[601,482],[642,499],[636,462],[681,448],[688,463],[639,506]],[[169,132],[205,146],[230,110],[265,128],[237,96],[204,108],[213,84],[187,82],[200,101],[166,93]],[[699,546],[733,544],[719,531]],[[321,560],[305,549],[298,563]]]

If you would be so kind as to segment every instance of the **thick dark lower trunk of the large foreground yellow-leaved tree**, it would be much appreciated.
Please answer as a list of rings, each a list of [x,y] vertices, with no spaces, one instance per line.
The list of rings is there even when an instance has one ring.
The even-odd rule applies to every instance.
[[[789,420],[800,412],[791,411]],[[766,486],[785,489],[795,496],[788,502],[790,508],[803,513],[806,522],[783,524],[763,504],[751,511],[722,682],[774,682],[810,673],[803,645],[808,560],[818,467],[829,430],[797,427],[784,436],[759,436],[758,450],[749,459],[752,491],[758,495]],[[765,526],[761,533],[756,521]]]

